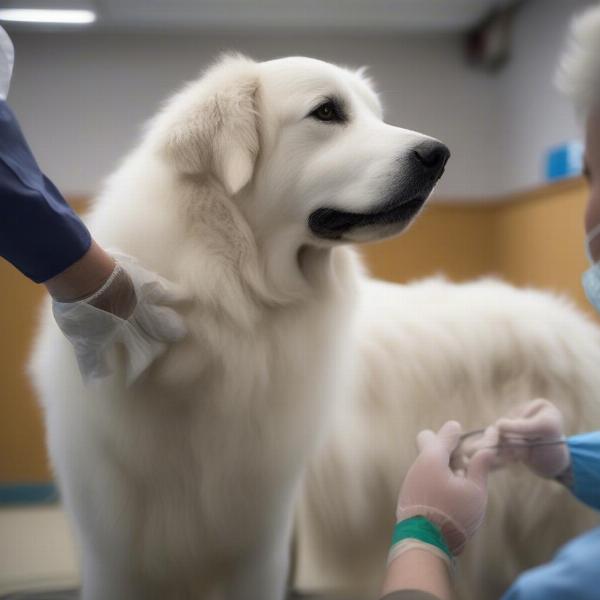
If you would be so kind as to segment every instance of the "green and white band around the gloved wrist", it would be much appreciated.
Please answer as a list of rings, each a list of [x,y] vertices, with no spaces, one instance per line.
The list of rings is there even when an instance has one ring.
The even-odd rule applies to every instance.
[[[454,572],[454,557],[439,527],[422,516],[400,521],[394,527],[388,565],[408,550],[421,549],[441,558],[450,572]]]

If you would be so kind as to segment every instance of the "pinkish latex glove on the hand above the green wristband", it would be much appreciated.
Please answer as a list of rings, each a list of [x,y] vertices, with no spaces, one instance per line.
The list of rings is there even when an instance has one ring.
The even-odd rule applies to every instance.
[[[436,524],[453,555],[477,531],[487,504],[487,475],[495,452],[485,449],[470,460],[466,471],[450,469],[450,455],[459,443],[461,427],[445,423],[437,434],[419,433],[419,456],[409,469],[396,509],[398,521],[422,515]],[[493,428],[486,431],[486,445],[497,444]]]

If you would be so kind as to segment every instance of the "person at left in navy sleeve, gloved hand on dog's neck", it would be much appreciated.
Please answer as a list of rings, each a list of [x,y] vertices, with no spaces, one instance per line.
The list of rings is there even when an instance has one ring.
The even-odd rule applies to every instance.
[[[42,173],[6,102],[13,62],[0,27],[0,256],[46,286],[84,380],[114,372],[110,350],[119,342],[131,384],[186,335],[173,308],[183,295],[132,258],[103,250]]]

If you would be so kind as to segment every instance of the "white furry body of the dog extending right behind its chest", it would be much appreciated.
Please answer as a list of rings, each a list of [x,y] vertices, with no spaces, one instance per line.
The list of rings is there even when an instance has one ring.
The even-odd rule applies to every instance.
[[[495,280],[364,284],[357,387],[305,483],[296,580],[375,598],[416,432],[449,419],[478,429],[536,397],[560,407],[568,434],[600,428],[600,331],[561,298]],[[484,525],[459,560],[462,599],[501,597],[597,522],[526,469],[492,473],[489,488]]]

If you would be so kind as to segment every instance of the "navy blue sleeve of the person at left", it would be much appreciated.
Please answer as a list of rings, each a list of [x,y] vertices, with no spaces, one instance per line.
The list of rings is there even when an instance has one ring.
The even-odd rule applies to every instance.
[[[86,226],[40,171],[15,115],[0,100],[0,256],[42,283],[90,248]]]

